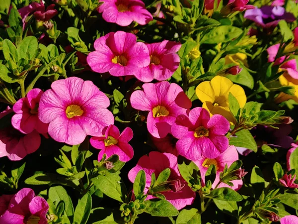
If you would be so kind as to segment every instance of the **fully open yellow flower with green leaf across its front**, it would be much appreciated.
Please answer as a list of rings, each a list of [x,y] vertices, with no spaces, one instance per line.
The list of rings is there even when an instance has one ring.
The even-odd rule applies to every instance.
[[[221,114],[228,121],[234,123],[233,115],[229,111],[228,94],[231,93],[238,101],[240,108],[246,103],[246,95],[242,87],[235,85],[228,78],[216,76],[211,81],[200,83],[196,88],[196,94],[203,103],[203,108],[210,115]]]

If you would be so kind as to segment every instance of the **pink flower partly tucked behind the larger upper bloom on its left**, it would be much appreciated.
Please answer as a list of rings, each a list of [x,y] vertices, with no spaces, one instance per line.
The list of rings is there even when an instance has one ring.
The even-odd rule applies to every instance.
[[[150,64],[139,70],[135,75],[142,82],[151,82],[153,79],[158,81],[167,80],[177,70],[180,58],[178,50],[180,43],[164,40],[159,43],[146,44],[149,49]]]

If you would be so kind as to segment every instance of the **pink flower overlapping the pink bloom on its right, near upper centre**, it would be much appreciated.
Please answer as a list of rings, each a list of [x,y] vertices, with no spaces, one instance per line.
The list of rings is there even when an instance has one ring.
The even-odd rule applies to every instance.
[[[94,72],[109,72],[112,76],[135,75],[150,63],[145,43],[137,42],[135,34],[110,32],[94,42],[95,51],[87,62]]]

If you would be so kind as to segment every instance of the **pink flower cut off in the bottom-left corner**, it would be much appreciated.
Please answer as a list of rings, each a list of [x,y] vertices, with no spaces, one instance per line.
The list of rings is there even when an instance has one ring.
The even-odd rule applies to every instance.
[[[49,205],[30,188],[23,188],[10,200],[0,224],[47,224]]]

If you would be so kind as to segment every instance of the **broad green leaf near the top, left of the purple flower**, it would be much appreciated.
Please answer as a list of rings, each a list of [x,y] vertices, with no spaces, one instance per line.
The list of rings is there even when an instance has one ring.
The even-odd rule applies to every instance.
[[[203,44],[218,44],[230,41],[241,35],[242,29],[234,26],[217,26],[211,29],[203,38],[200,43]]]

